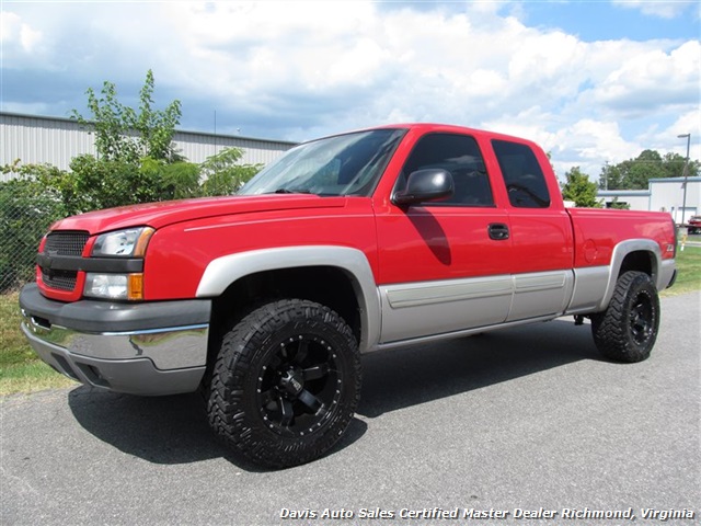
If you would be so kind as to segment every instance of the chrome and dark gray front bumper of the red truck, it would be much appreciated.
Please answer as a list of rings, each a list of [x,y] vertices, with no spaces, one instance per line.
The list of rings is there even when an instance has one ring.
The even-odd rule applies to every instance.
[[[174,395],[196,390],[205,373],[208,300],[62,304],[27,285],[20,306],[22,331],[37,355],[85,385]]]

